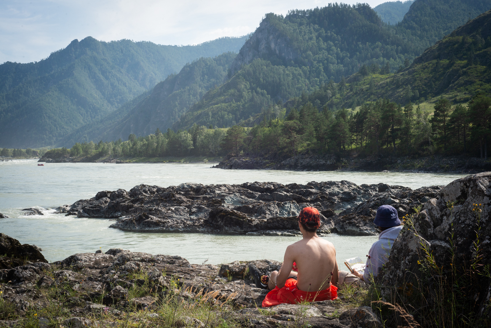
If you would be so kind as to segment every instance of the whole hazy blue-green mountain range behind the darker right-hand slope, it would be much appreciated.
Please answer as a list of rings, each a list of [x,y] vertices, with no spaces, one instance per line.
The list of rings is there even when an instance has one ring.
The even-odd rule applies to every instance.
[[[401,7],[407,2],[396,4]],[[101,50],[97,52],[85,47],[83,56],[73,55],[77,59],[72,61],[65,59],[69,65],[51,64],[52,71],[45,75],[37,71],[35,74],[31,71],[19,74],[21,69],[18,68],[11,69],[8,75],[3,73],[7,70],[0,65],[0,82],[8,85],[0,87],[0,128],[5,129],[0,133],[0,145],[33,147],[56,144],[71,147],[74,142],[125,139],[129,133],[146,135],[156,128],[165,130],[170,126],[177,131],[188,129],[193,124],[218,127],[251,125],[254,118],[275,104],[285,104],[292,98],[307,99],[309,94],[322,88],[326,92],[322,98],[316,98],[318,108],[327,106],[337,110],[342,106],[352,106],[354,102],[378,94],[377,90],[383,89],[380,83],[387,73],[397,71],[397,76],[408,75],[417,62],[408,67],[409,64],[426,48],[469,18],[490,9],[491,0],[415,0],[401,22],[395,25],[386,16],[384,19],[390,24],[382,21],[381,8],[383,6],[377,13],[367,4],[329,4],[323,8],[293,10],[284,17],[266,14],[260,26],[248,37],[219,39],[205,44],[208,55],[195,56],[197,49],[204,45],[189,48],[190,51],[193,49],[194,58],[186,60],[188,64],[183,62],[179,68],[184,67],[175,75],[169,74],[177,72],[179,64],[170,60],[170,55],[165,62],[174,66],[162,64],[160,70],[151,69],[153,66],[149,62],[157,65],[157,61],[152,60],[158,57],[152,51],[138,50],[138,54],[147,57],[142,55],[145,60],[139,60],[134,55],[135,61],[132,62],[127,56],[115,55],[117,49],[123,51],[121,46],[118,48],[116,44],[91,38],[87,43],[100,43],[94,49],[110,49],[105,50],[106,57],[94,55]],[[148,49],[170,47],[154,47],[151,43],[140,45],[128,40],[113,43],[125,42],[131,43],[132,49],[145,48],[144,45]],[[66,58],[69,48],[52,54],[48,60],[58,53],[63,53],[64,57],[60,57]],[[177,54],[179,49],[172,49],[172,54]],[[186,53],[184,49],[182,51]],[[206,51],[202,50],[203,53]],[[220,55],[228,51],[238,54]],[[475,56],[479,60],[479,56],[484,55],[479,53]],[[198,57],[204,58],[196,60]],[[37,64],[17,65],[27,71],[22,65]],[[168,68],[170,66],[173,71]],[[366,67],[379,70],[380,78],[374,81],[373,74],[361,75],[360,69],[366,70]],[[109,74],[111,70],[117,74]],[[65,71],[70,72],[71,79],[63,78]],[[115,77],[114,82],[100,78],[108,74]],[[401,85],[406,83],[402,75],[397,80]],[[131,78],[124,80],[120,76]],[[361,87],[364,81],[369,81],[368,77],[375,89],[372,87],[367,96]],[[164,81],[159,82],[161,80]],[[353,88],[359,85],[361,93],[354,94],[353,90],[346,89],[343,94],[336,94],[334,89],[326,88],[332,83],[340,86],[350,84]],[[414,82],[411,80],[411,83]],[[24,92],[24,89],[30,91]],[[443,90],[419,89],[418,92],[425,96],[433,96]],[[413,95],[415,91],[416,88],[411,90]],[[401,90],[394,92],[399,94],[401,101],[404,100]]]

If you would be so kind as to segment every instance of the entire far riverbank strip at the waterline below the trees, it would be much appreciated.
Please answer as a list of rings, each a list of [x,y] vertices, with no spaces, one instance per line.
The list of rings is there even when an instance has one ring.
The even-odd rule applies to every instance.
[[[367,171],[367,172],[420,172],[475,174],[491,171],[491,159],[467,156],[426,157],[364,157],[356,154],[339,157],[334,154],[300,154],[287,159],[270,160],[264,157],[228,156],[165,156],[165,157],[112,157],[83,156],[62,158],[42,157],[47,163],[217,163],[214,168],[230,170],[290,170],[290,171]]]

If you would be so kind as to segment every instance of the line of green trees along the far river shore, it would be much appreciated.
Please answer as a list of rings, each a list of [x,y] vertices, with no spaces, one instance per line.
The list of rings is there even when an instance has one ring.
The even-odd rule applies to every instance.
[[[435,103],[433,115],[419,105],[408,103],[402,107],[388,100],[367,102],[335,113],[326,107],[319,110],[310,102],[290,109],[277,104],[265,111],[253,127],[194,124],[177,132],[167,129],[162,133],[157,129],[147,136],[130,134],[127,141],[90,141],[76,143],[71,149],[50,149],[43,158],[96,161],[123,157],[158,161],[155,159],[228,155],[278,162],[299,154],[333,154],[358,159],[436,155],[487,160],[490,124],[491,98],[483,94],[455,106],[441,98]]]

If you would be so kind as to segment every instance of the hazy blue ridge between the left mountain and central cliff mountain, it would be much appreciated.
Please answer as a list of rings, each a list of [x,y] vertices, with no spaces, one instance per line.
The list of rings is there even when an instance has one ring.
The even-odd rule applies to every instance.
[[[78,128],[62,138],[57,146],[70,148],[76,142],[126,140],[131,133],[146,136],[157,128],[165,131],[206,91],[223,83],[235,57],[235,53],[229,52],[186,64],[178,74],[169,75],[151,91],[98,122]]]

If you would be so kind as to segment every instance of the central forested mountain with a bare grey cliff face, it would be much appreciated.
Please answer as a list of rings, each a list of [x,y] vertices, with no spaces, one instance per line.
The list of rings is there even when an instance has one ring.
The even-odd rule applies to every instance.
[[[409,55],[408,55],[409,54]],[[209,91],[174,129],[248,119],[278,100],[355,73],[365,62],[395,68],[413,56],[367,4],[267,14],[234,60],[231,79]]]

